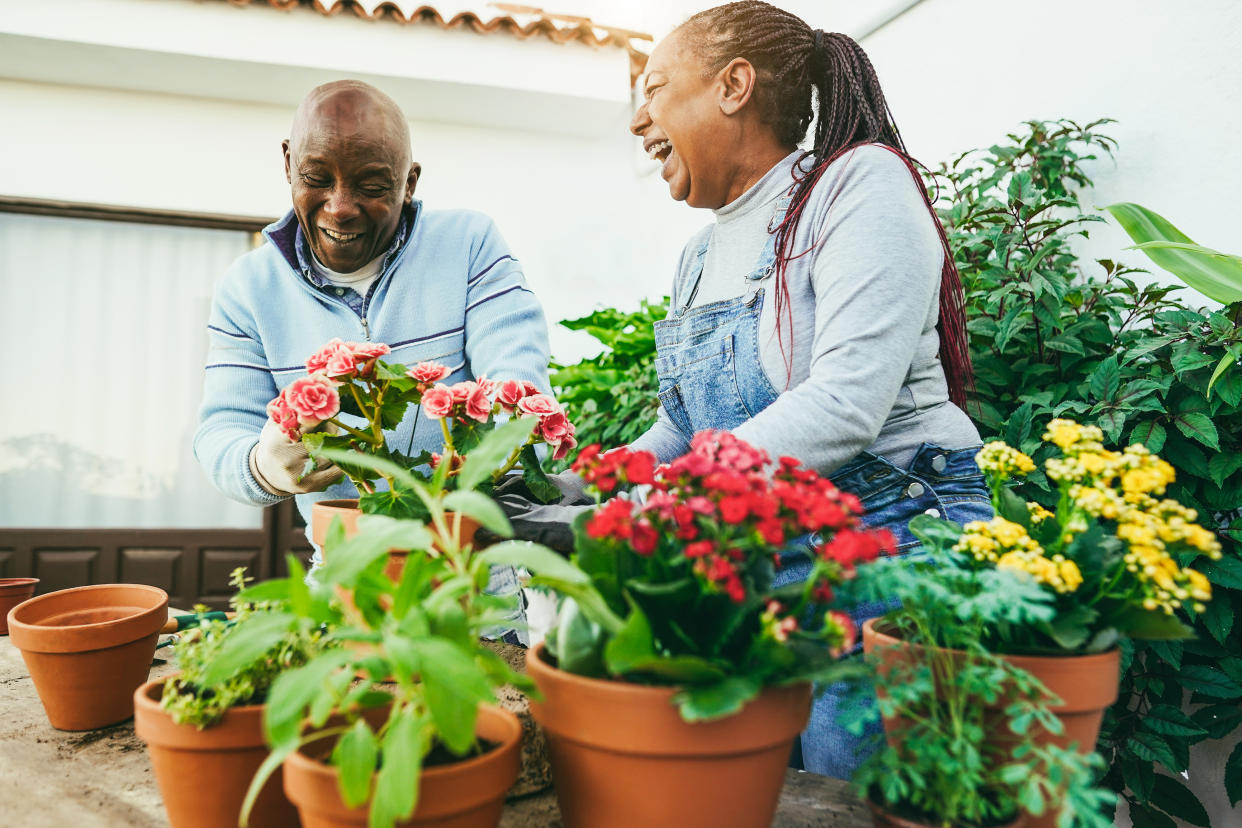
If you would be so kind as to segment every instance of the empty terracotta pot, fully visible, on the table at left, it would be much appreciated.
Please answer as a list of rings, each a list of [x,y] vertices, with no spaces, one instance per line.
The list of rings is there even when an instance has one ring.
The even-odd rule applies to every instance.
[[[147,680],[166,619],[164,590],[102,583],[19,605],[9,634],[52,727],[94,730],[134,715],[134,690]]]

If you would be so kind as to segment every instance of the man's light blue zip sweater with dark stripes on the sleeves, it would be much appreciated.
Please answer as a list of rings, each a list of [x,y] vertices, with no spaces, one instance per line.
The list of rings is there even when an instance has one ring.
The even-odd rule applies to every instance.
[[[404,238],[402,238],[404,235]],[[425,360],[452,369],[446,384],[487,376],[529,380],[548,390],[548,325],[522,266],[487,216],[407,206],[394,248],[365,298],[317,287],[309,251],[291,211],[263,230],[262,247],[238,258],[216,284],[210,348],[194,453],[216,488],[235,500],[270,505],[250,470],[250,451],[282,387],[306,376],[306,359],[334,336],[392,348],[386,361]],[[347,417],[347,421],[350,421]],[[414,410],[389,446],[406,454],[443,451],[438,423]],[[354,498],[348,479],[297,497],[310,503]]]

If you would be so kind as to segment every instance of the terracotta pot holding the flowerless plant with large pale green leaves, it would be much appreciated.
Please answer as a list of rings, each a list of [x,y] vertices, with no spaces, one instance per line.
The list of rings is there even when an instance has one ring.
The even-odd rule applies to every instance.
[[[435,828],[496,828],[504,793],[518,778],[522,725],[499,708],[479,708],[476,734],[499,746],[472,758],[424,768],[419,806],[397,826]],[[349,808],[340,798],[339,773],[320,758],[329,740],[309,742],[284,761],[284,792],[298,808],[306,828],[365,826],[366,807]],[[251,819],[251,824],[258,824]]]

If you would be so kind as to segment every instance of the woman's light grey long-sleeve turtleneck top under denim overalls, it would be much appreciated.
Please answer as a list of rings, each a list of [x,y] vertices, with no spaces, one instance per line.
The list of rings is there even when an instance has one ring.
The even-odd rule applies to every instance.
[[[790,154],[714,211],[715,222],[682,253],[674,305],[704,238],[710,243],[694,307],[745,292],[800,155]],[[979,443],[974,423],[949,401],[938,356],[944,253],[933,221],[905,164],[884,148],[857,148],[825,170],[794,237],[796,253],[810,252],[786,269],[790,308],[782,325],[790,328],[792,317],[792,326],[782,333],[784,353],[770,283],[764,297],[760,360],[781,394],[734,428],[738,437],[821,474],[863,451],[904,468],[923,443],[945,449]],[[668,462],[689,443],[661,408],[633,448]]]

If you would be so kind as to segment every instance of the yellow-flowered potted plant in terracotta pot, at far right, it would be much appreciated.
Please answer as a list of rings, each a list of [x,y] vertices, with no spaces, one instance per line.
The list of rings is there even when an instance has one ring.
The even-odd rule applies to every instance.
[[[1104,710],[1117,699],[1122,638],[1179,639],[1191,634],[1180,610],[1202,612],[1211,585],[1190,564],[1218,559],[1216,536],[1196,513],[1164,498],[1174,479],[1167,463],[1143,446],[1108,451],[1095,426],[1053,420],[1043,438],[1059,449],[1045,463],[1058,492],[1054,510],[1018,498],[1006,482],[1035,470],[1030,457],[987,443],[979,466],[989,475],[997,516],[959,526],[920,515],[910,521],[930,557],[887,562],[929,582],[948,583],[944,601],[995,600],[997,574],[1017,575],[1042,610],[999,617],[980,631],[982,647],[1033,674],[1054,696],[1059,726],[1038,729],[1041,744],[1095,747]],[[868,571],[882,578],[886,566]],[[883,587],[876,587],[884,592]],[[889,588],[887,595],[892,595]],[[907,632],[877,624],[877,642]],[[956,647],[950,639],[934,643]],[[1045,817],[1033,824],[1051,824]]]

